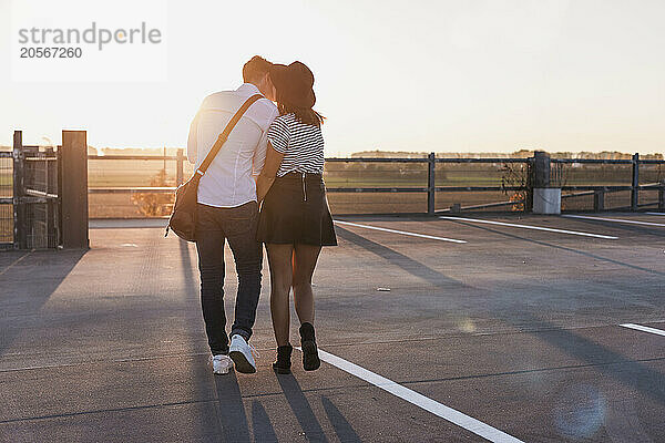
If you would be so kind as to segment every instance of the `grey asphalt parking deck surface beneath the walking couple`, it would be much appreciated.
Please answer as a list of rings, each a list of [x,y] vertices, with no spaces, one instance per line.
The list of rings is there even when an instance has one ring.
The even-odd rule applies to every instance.
[[[621,326],[665,330],[665,216],[589,216],[651,225],[344,218],[432,237],[340,224],[321,255],[319,347],[365,378],[305,372],[297,351],[293,375],[272,371],[267,261],[258,372],[213,375],[196,249],[163,220],[92,222],[88,251],[0,253],[0,441],[487,441],[448,406],[524,442],[665,442],[665,336]]]

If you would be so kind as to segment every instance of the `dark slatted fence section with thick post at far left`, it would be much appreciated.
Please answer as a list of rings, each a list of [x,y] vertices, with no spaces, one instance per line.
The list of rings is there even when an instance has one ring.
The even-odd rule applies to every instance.
[[[54,150],[16,131],[12,152],[0,152],[0,248],[88,247],[85,132],[62,134]]]

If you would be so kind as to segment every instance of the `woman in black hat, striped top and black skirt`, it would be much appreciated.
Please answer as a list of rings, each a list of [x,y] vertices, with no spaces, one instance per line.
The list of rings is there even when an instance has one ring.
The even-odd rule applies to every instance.
[[[270,71],[279,116],[268,130],[268,152],[257,179],[263,202],[258,239],[266,244],[270,265],[270,312],[277,340],[277,373],[290,373],[289,292],[294,288],[300,320],[303,367],[320,367],[314,332],[311,275],[321,246],[336,246],[332,217],[326,200],[323,117],[313,110],[314,75],[294,62]]]

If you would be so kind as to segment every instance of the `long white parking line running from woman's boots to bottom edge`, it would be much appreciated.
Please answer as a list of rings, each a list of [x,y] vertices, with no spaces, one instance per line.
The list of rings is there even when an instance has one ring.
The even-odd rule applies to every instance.
[[[490,442],[523,443],[521,440],[518,440],[503,431],[499,431],[498,429],[492,427],[489,424],[481,422],[480,420],[475,420],[472,416],[461,413],[460,411],[457,411],[428,396],[419,394],[416,391],[405,388],[401,384],[393,382],[392,380],[388,380],[385,377],[368,371],[365,368],[361,368],[357,364],[351,363],[350,361],[341,359],[320,349],[319,358],[323,361],[330,363],[345,372],[350,373],[351,375],[365,380],[366,382],[371,383],[375,387],[382,389],[383,391],[390,392],[391,394],[399,396],[400,399],[406,400],[409,403],[417,405],[418,408],[431,412],[432,414],[438,415],[443,420],[448,420],[449,422],[454,423],[458,426],[466,429],[467,431],[473,432],[475,435],[480,435],[483,439],[489,440]]]

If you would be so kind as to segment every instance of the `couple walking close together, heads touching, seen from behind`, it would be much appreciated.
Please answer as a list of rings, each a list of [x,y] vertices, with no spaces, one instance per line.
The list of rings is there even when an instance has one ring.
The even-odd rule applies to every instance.
[[[323,117],[313,110],[314,75],[300,62],[273,64],[256,55],[243,66],[243,81],[235,91],[204,100],[187,140],[187,158],[198,168],[232,116],[250,97],[260,95],[249,102],[198,184],[196,249],[213,372],[228,373],[234,365],[238,372],[256,372],[248,341],[260,293],[264,243],[277,341],[273,368],[278,373],[290,372],[293,288],[303,365],[313,371],[320,360],[311,276],[321,246],[337,245],[323,182]],[[223,299],[226,240],[238,276],[231,340]]]

